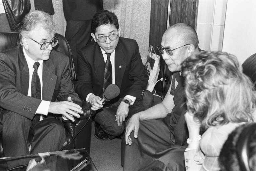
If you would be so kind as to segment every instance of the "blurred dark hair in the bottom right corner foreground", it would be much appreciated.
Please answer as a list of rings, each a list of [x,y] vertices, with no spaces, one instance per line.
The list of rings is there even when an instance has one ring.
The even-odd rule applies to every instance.
[[[256,123],[244,124],[237,127],[232,133],[229,134],[228,139],[222,147],[219,157],[221,171],[245,171],[245,168],[243,168],[242,165],[247,165],[247,168],[249,167],[250,170],[255,170],[255,124]],[[246,138],[244,138],[243,136],[246,136]],[[239,142],[239,140],[244,141],[244,144],[241,143],[241,141]],[[239,149],[238,145],[240,145],[241,147],[245,147],[246,144],[248,149],[246,149],[246,153],[244,153],[244,151],[242,152],[242,150]],[[241,152],[243,153],[243,155]],[[243,161],[239,161],[239,158],[243,158]]]

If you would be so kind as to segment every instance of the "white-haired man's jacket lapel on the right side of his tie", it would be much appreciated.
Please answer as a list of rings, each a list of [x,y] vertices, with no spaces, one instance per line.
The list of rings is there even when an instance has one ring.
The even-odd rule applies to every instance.
[[[55,73],[55,66],[53,61],[48,59],[43,63],[43,71],[42,71],[42,100],[51,101],[52,95],[55,89],[55,84],[57,81],[57,75]]]

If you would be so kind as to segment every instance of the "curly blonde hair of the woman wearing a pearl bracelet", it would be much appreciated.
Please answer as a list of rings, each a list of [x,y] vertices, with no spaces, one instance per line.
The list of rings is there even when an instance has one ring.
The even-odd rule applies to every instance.
[[[256,92],[236,56],[203,51],[182,63],[187,110],[202,128],[252,122]]]

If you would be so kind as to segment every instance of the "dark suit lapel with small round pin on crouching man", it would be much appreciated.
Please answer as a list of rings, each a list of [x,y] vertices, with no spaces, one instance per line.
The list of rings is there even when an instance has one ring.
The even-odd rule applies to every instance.
[[[121,88],[123,74],[126,68],[125,53],[123,52],[120,42],[118,42],[115,48],[115,84]]]

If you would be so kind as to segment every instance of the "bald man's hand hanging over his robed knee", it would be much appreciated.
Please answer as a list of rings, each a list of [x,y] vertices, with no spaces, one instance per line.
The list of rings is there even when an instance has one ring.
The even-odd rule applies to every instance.
[[[132,145],[131,133],[134,131],[134,138],[138,138],[138,132],[140,129],[139,115],[134,114],[126,123],[125,128],[125,144]]]

